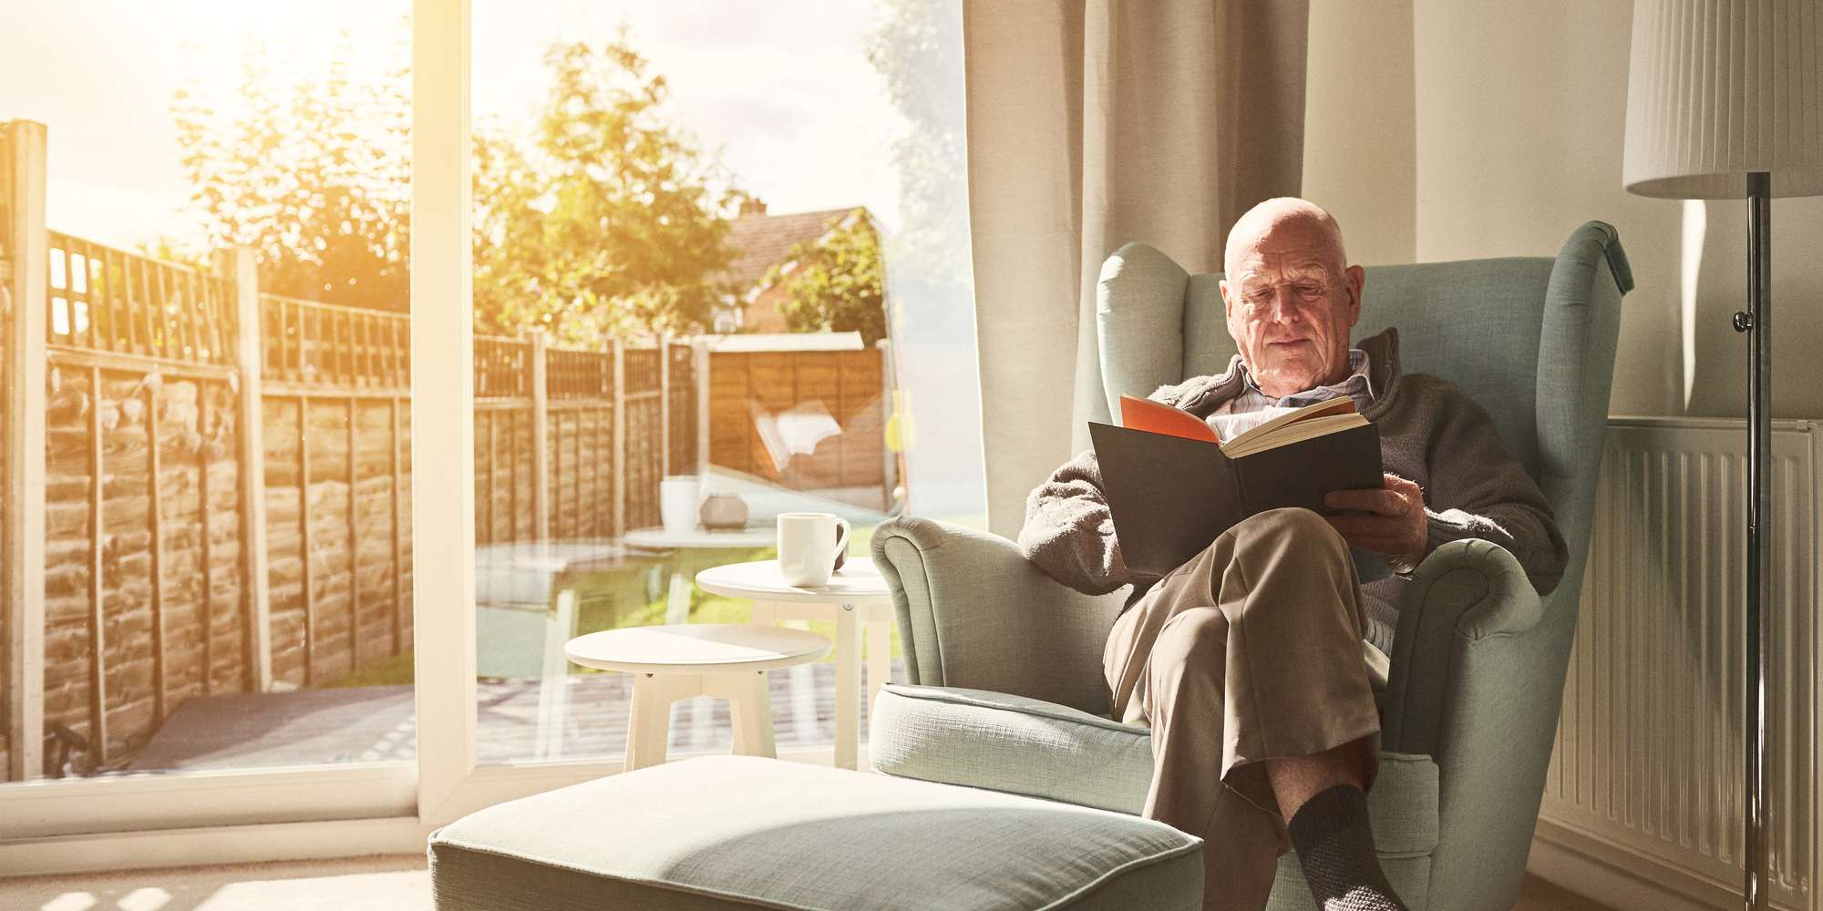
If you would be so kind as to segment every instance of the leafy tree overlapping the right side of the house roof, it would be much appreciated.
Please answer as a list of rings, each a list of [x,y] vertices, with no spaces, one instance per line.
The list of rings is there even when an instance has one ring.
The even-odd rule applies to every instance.
[[[819,241],[791,244],[786,261],[797,268],[784,273],[773,266],[764,284],[784,282],[789,299],[778,304],[778,313],[793,332],[859,332],[870,348],[886,337],[881,235],[864,210],[831,219]]]

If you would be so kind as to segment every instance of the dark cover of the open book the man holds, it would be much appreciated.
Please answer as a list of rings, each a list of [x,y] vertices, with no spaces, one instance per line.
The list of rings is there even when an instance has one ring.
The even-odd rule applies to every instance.
[[[1280,507],[1323,508],[1323,494],[1384,486],[1373,425],[1231,459],[1221,446],[1110,425],[1088,425],[1101,486],[1127,568],[1159,578],[1234,523]],[[1384,561],[1354,550],[1362,581]]]

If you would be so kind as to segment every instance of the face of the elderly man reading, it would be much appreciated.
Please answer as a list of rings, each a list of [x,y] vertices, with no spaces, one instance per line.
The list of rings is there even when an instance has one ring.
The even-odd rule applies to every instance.
[[[1278,222],[1240,244],[1229,266],[1229,335],[1262,392],[1291,395],[1349,374],[1365,271],[1342,262],[1322,224]]]

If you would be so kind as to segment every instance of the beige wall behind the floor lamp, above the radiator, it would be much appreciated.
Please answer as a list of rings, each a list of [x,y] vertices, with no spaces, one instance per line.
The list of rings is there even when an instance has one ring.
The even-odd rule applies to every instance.
[[[1745,341],[1730,328],[1746,281],[1745,202],[1684,206],[1621,188],[1632,4],[1411,7],[1415,259],[1550,255],[1577,224],[1608,220],[1637,282],[1612,414],[1745,414]],[[1810,379],[1823,361],[1823,257],[1808,253],[1819,235],[1823,199],[1774,202],[1779,417],[1823,415],[1823,384]]]

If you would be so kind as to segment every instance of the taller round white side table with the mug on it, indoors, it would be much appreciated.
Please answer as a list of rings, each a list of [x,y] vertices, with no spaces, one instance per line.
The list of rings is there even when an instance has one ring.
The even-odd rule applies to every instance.
[[[886,681],[893,594],[866,558],[850,558],[828,585],[788,585],[777,559],[729,563],[696,574],[696,587],[753,599],[753,621],[835,621],[835,767],[853,769],[860,752],[860,634],[868,634],[868,705]]]

